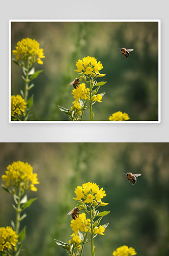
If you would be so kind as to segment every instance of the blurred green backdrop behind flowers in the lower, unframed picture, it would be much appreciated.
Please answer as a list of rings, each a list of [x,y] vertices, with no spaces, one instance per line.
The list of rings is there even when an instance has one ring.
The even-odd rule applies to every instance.
[[[66,255],[54,239],[68,242],[73,233],[71,216],[76,207],[74,190],[88,181],[106,192],[102,210],[110,210],[104,236],[94,244],[96,255],[112,255],[119,246],[135,248],[137,255],[169,254],[169,144],[168,143],[1,143],[1,176],[13,161],[28,162],[38,174],[38,200],[25,210],[26,239],[22,256]],[[123,173],[140,173],[135,185]],[[5,182],[1,182],[5,184]],[[13,197],[0,193],[0,226],[15,220]],[[91,254],[90,244],[83,255]]]

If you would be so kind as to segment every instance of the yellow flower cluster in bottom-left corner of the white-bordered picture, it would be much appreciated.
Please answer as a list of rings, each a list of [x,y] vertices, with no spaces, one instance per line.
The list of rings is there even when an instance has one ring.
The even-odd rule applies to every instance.
[[[11,96],[11,116],[14,116],[15,113],[19,116],[21,116],[21,114],[25,115],[24,111],[26,108],[26,104],[27,103],[24,101],[24,99],[20,95],[16,95],[16,96],[12,95]]]

